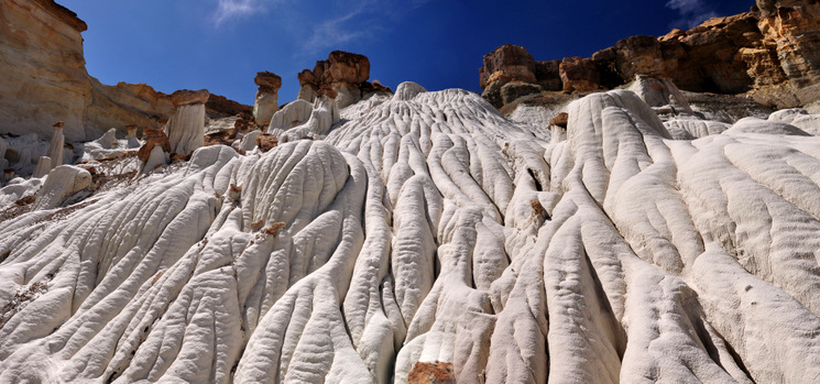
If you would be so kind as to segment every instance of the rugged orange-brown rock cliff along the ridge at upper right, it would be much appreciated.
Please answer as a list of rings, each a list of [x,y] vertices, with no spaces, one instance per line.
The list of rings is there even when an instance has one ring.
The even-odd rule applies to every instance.
[[[496,108],[514,96],[542,91],[614,89],[638,75],[668,79],[688,91],[745,94],[777,108],[803,106],[820,100],[818,23],[817,1],[761,0],[751,12],[657,39],[627,37],[589,58],[535,62],[523,47],[504,45],[484,56],[480,85]],[[517,92],[503,97],[502,88],[516,81],[528,87],[518,85]]]

